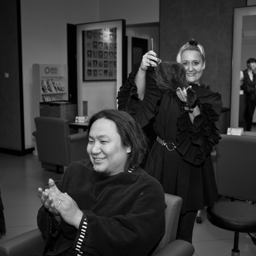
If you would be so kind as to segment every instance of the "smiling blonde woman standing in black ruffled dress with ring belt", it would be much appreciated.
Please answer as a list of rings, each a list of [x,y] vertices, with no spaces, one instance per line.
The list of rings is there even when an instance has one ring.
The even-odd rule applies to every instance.
[[[178,62],[178,63],[177,63]],[[183,199],[177,239],[192,242],[197,212],[219,200],[211,151],[221,139],[216,121],[221,95],[200,84],[205,53],[191,39],[177,62],[161,62],[154,51],[136,63],[118,92],[118,110],[145,126],[154,118],[157,139],[145,165],[165,193]]]

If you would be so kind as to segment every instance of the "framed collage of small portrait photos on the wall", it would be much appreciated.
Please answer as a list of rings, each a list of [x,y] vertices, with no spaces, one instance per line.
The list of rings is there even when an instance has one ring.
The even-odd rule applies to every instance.
[[[83,81],[116,80],[116,28],[82,31]]]

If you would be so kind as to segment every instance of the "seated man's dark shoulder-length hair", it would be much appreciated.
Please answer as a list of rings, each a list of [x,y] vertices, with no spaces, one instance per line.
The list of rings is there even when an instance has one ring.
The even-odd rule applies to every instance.
[[[91,117],[88,134],[90,133],[92,124],[101,118],[113,121],[116,124],[116,131],[121,137],[121,145],[123,147],[131,147],[132,151],[129,153],[124,171],[126,172],[130,168],[138,167],[148,153],[148,140],[139,124],[130,114],[124,111],[105,109]]]

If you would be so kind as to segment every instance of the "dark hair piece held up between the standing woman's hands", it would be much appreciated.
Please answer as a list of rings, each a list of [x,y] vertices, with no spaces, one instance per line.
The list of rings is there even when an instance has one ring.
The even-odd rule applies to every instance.
[[[175,92],[177,88],[187,88],[186,70],[181,63],[178,62],[160,62],[154,68],[153,77],[157,86],[162,90],[170,90]]]

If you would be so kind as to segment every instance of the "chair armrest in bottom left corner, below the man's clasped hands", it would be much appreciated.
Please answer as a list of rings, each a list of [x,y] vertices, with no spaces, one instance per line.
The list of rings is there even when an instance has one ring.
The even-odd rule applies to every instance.
[[[1,256],[42,255],[45,241],[38,228],[0,243]]]

